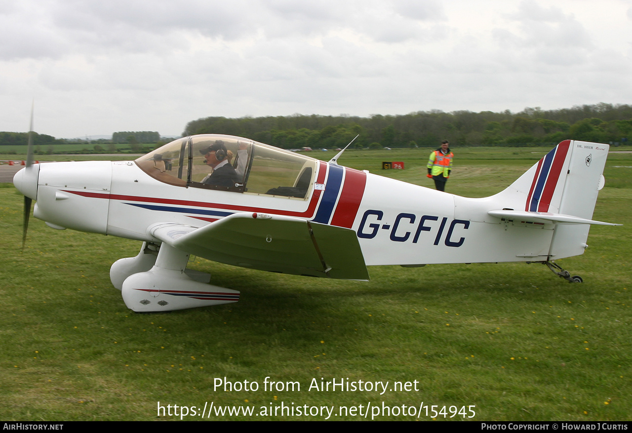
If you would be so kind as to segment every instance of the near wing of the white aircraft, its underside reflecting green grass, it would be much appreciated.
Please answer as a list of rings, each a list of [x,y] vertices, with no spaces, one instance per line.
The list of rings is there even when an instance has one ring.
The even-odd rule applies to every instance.
[[[240,212],[200,228],[154,224],[149,233],[215,262],[284,274],[368,280],[358,238],[347,228]]]

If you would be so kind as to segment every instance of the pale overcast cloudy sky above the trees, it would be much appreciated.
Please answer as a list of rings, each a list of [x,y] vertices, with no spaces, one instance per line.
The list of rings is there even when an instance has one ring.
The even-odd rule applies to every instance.
[[[632,0],[2,0],[0,131],[632,103]],[[221,131],[217,131],[221,133]]]

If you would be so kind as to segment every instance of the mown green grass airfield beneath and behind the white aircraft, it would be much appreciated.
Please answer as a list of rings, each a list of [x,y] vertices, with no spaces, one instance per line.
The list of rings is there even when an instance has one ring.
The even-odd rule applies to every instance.
[[[451,193],[499,192],[544,149],[454,149]],[[332,152],[312,153],[329,159]],[[412,183],[428,150],[348,152],[341,164]],[[382,171],[382,161],[404,161]],[[559,263],[582,284],[539,264],[370,267],[371,281],[336,281],[234,268],[196,259],[238,303],[134,314],[109,267],[140,243],[56,231],[31,218],[20,252],[22,197],[0,188],[0,418],[169,420],[157,405],[248,406],[267,415],[210,420],[320,420],[274,415],[284,406],[420,404],[474,420],[630,420],[632,413],[632,154],[611,153],[586,252]],[[490,174],[494,173],[494,174]],[[257,391],[215,389],[217,379]],[[298,382],[267,391],[264,381]],[[309,390],[313,380],[386,382],[387,391]],[[392,389],[411,382],[411,391]],[[414,381],[417,381],[416,384]],[[178,408],[180,410],[180,408]],[[454,409],[453,409],[454,411]],[[379,420],[431,420],[422,415]],[[179,413],[179,412],[178,412]],[[365,419],[349,412],[335,420]],[[471,413],[468,412],[468,415]],[[371,418],[369,413],[368,419]],[[201,417],[191,415],[184,419]],[[437,420],[443,420],[439,415]],[[468,418],[466,418],[468,419]]]

